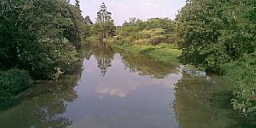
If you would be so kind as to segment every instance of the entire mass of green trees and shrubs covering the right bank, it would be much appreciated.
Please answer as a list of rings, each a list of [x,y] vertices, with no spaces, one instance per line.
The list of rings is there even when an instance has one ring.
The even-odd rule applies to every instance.
[[[187,0],[177,15],[185,64],[225,73],[234,81],[233,107],[256,111],[255,0]]]

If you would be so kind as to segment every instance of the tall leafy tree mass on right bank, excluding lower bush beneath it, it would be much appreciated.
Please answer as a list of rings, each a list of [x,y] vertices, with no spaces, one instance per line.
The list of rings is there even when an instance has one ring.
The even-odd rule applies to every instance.
[[[253,53],[256,47],[253,1],[187,0],[176,18],[182,61],[222,73],[221,65]],[[238,8],[244,10],[236,11]]]

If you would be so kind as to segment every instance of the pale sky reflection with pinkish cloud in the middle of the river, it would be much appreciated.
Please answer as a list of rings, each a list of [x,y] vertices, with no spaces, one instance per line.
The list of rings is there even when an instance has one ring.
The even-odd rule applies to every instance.
[[[182,74],[169,70],[163,79],[152,78],[152,73],[140,76],[122,58],[122,54],[114,55],[105,76],[97,67],[96,55],[84,61],[81,83],[75,88],[79,99],[67,107],[66,115],[75,120],[70,128],[177,128],[169,105]]]

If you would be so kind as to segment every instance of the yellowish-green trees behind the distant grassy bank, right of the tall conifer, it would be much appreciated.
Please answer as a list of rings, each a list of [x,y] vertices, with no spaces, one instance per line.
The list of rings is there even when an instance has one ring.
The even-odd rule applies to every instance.
[[[130,18],[130,21],[123,24],[117,32],[118,40],[127,44],[149,44],[160,43],[175,44],[175,24],[168,18],[151,18],[142,21],[137,18]]]

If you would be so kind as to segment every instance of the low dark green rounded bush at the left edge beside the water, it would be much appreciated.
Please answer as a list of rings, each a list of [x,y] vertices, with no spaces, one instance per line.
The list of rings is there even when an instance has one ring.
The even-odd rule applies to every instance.
[[[11,69],[0,71],[0,104],[12,99],[15,94],[32,86],[28,71]]]

